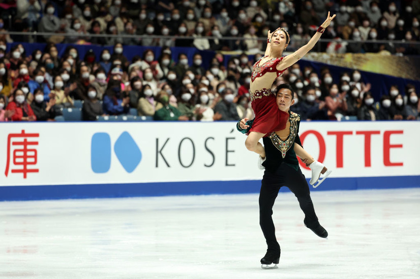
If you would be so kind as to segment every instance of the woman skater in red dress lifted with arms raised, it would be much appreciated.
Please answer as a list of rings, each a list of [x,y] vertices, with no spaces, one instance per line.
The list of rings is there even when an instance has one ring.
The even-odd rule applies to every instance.
[[[281,111],[277,107],[276,96],[270,89],[271,85],[277,77],[283,75],[288,67],[296,63],[315,46],[325,28],[328,27],[335,17],[336,15],[329,16],[328,12],[326,20],[321,24],[311,40],[305,46],[296,50],[292,55],[285,57],[282,57],[282,53],[290,43],[289,33],[283,28],[277,28],[273,33],[268,31],[265,56],[258,60],[252,69],[250,95],[251,106],[255,112],[255,120],[245,141],[245,146],[248,150],[259,154],[259,165],[265,160],[265,151],[258,141],[261,137],[268,136],[273,131],[283,130],[289,117],[287,112]],[[321,173],[325,173],[324,178],[314,186],[317,187],[331,171],[327,171],[323,164],[315,161],[301,146],[295,144],[293,149],[296,155],[307,162],[311,168],[311,185],[314,186],[320,178]]]

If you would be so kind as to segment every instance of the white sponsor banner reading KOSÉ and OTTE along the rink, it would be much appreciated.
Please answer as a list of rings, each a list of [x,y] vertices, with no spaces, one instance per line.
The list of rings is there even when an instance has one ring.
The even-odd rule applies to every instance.
[[[235,122],[0,124],[0,185],[258,181]],[[420,122],[302,122],[331,178],[418,176]],[[311,172],[302,165],[307,178]]]

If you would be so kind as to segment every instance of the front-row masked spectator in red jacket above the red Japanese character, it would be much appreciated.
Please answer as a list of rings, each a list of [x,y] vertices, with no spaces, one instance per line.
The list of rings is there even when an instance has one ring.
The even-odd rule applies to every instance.
[[[25,94],[21,89],[13,92],[13,100],[6,107],[7,111],[12,111],[10,119],[12,121],[36,121],[37,117],[32,111],[31,106],[26,102]]]

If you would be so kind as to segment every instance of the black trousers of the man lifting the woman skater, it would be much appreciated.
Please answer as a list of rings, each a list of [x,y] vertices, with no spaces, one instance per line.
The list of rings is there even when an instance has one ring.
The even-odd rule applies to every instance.
[[[299,201],[299,205],[305,213],[304,223],[308,227],[314,227],[319,224],[310,196],[309,186],[301,169],[295,170],[286,163],[282,163],[275,172],[265,170],[261,181],[259,207],[260,226],[267,241],[267,251],[280,251],[272,215],[274,201],[280,188],[283,186],[288,187]]]

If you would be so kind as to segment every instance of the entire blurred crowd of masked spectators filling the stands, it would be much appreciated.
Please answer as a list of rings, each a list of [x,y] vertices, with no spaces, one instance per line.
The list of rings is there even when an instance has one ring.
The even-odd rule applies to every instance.
[[[54,120],[69,111],[82,120],[252,118],[251,69],[265,51],[267,31],[288,30],[287,51],[295,50],[311,38],[325,11],[337,18],[322,35],[332,40],[319,42],[319,51],[420,52],[419,1],[17,0],[0,1],[0,7],[0,121]],[[27,53],[21,42],[45,48]],[[60,55],[57,44],[66,44]],[[113,47],[81,57],[75,44]],[[129,60],[128,45],[146,49]],[[154,47],[161,48],[159,55]],[[189,59],[174,55],[174,47],[197,52]],[[216,51],[208,67],[202,50]],[[273,86],[282,82],[295,89],[291,110],[303,120],[419,117],[414,85],[391,86],[375,99],[358,71],[343,72],[334,82],[327,66],[317,73],[298,63]]]

